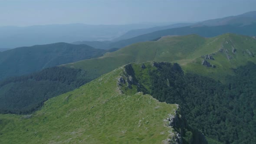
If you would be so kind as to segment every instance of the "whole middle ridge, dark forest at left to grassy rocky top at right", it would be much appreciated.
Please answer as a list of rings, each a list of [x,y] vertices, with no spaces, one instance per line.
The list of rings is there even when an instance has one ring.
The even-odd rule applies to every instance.
[[[158,41],[136,43],[106,53],[100,58],[82,60],[61,65],[60,69],[45,69],[0,81],[0,112],[30,113],[40,107],[42,101],[47,98],[73,90],[130,62],[177,62],[185,72],[194,72],[225,83],[226,75],[234,74],[232,69],[246,65],[247,62],[256,62],[255,49],[256,39],[235,34],[213,38],[198,35],[165,36]],[[61,74],[63,79],[54,75],[55,73]],[[79,77],[76,78],[75,75]],[[58,90],[53,87],[58,87]],[[38,88],[43,90],[38,91]],[[33,100],[27,100],[30,98]]]

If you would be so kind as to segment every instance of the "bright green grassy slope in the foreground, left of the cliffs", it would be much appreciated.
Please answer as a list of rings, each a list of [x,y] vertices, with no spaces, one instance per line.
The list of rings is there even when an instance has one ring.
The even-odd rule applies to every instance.
[[[177,105],[150,95],[121,94],[123,69],[45,102],[31,118],[0,115],[0,143],[159,143],[171,128],[164,119]],[[97,89],[95,91],[95,89]]]

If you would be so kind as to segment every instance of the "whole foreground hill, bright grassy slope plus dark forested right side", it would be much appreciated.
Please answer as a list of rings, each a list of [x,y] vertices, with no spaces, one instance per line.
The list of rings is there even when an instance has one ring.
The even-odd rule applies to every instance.
[[[32,115],[0,115],[0,142],[207,143],[198,128],[212,144],[253,143],[256,65],[233,72],[223,84],[177,63],[128,64],[49,99]]]

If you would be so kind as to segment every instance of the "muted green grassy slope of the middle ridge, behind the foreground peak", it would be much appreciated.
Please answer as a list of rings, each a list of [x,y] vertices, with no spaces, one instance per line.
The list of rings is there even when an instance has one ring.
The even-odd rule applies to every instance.
[[[228,42],[228,43],[226,43]],[[232,46],[236,54],[232,53]],[[233,59],[228,60],[224,52],[227,49]],[[97,59],[89,59],[70,63],[65,66],[85,69],[89,75],[95,77],[130,62],[177,62],[185,71],[193,71],[214,79],[222,79],[225,74],[232,74],[230,68],[246,64],[247,61],[256,62],[255,57],[246,52],[256,52],[256,40],[249,36],[223,34],[213,38],[203,38],[197,35],[166,36],[158,41],[141,42],[105,54]],[[214,54],[215,60],[208,60],[217,68],[207,68],[201,65],[202,55]]]

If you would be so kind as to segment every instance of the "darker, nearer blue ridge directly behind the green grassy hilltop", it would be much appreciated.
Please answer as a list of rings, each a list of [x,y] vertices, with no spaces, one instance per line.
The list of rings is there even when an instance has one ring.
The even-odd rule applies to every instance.
[[[245,26],[235,26],[235,25],[223,25],[223,26],[186,26],[173,29],[164,29],[160,31],[155,31],[152,33],[147,33],[141,36],[136,36],[131,39],[120,40],[118,42],[76,42],[74,44],[86,44],[89,46],[94,46],[98,49],[110,49],[110,48],[121,48],[128,46],[132,43],[154,41],[162,36],[183,36],[189,34],[197,34],[204,37],[218,36],[223,33],[236,33],[241,35],[256,36],[256,24],[250,24]]]

